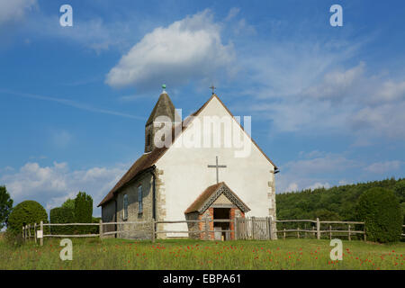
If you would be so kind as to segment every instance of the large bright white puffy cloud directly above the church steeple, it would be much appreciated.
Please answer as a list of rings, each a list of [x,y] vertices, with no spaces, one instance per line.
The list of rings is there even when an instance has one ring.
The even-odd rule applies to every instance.
[[[218,69],[230,72],[234,58],[232,44],[222,43],[220,24],[205,10],[146,34],[105,81],[114,87],[181,85],[210,77]]]

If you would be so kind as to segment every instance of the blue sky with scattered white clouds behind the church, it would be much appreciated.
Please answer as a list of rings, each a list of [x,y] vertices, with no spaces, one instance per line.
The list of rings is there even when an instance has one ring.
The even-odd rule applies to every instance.
[[[404,16],[403,1],[0,0],[0,184],[47,210],[79,190],[96,205],[143,152],[163,83],[183,114],[214,83],[251,115],[277,193],[403,177]]]

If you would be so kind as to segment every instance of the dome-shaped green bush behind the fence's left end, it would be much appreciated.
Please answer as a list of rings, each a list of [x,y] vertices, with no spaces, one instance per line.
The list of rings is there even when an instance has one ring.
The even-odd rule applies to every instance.
[[[47,211],[45,211],[40,203],[27,200],[14,207],[8,217],[7,230],[14,235],[18,235],[23,233],[24,225],[39,224],[40,221],[47,222],[47,220]]]

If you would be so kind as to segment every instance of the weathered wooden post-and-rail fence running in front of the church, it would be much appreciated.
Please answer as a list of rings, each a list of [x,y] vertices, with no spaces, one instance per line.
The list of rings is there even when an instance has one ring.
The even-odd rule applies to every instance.
[[[210,223],[228,222],[229,227],[233,229],[213,229],[211,230]],[[175,224],[186,223],[187,230],[159,230],[157,224]],[[202,229],[199,228],[199,223],[203,223]],[[288,229],[278,229],[277,226],[288,224]],[[113,229],[106,229],[113,226]],[[125,226],[132,225],[135,228],[125,229]],[[338,228],[337,228],[338,225]],[[49,234],[44,234],[44,226]],[[50,227],[52,226],[98,226],[97,234],[73,234],[73,235],[58,235],[51,234]],[[293,228],[295,226],[295,228]],[[303,228],[302,228],[303,226]],[[309,226],[309,227],[308,227]],[[359,227],[363,226],[363,229]],[[311,227],[311,228],[310,228]],[[324,229],[321,229],[321,228]],[[344,227],[344,229],[342,229]],[[402,226],[405,228],[405,225]],[[361,237],[366,240],[365,222],[359,221],[320,221],[317,220],[272,220],[270,217],[251,217],[251,218],[236,218],[234,220],[211,220],[205,218],[203,220],[149,220],[149,221],[124,221],[124,222],[105,222],[100,220],[99,223],[46,223],[42,221],[40,224],[26,225],[23,227],[23,238],[25,240],[34,239],[35,243],[40,242],[43,245],[43,238],[80,238],[80,237],[98,237],[103,239],[106,236],[116,235],[118,238],[138,237],[143,239],[151,239],[155,241],[158,234],[161,233],[181,233],[187,234],[189,238],[202,238],[209,240],[213,233],[233,233],[234,239],[247,240],[270,240],[275,238],[332,238],[332,237]],[[202,234],[202,237],[200,235]],[[211,237],[210,237],[211,235]],[[230,234],[229,234],[230,235]],[[401,234],[405,237],[405,234]],[[223,238],[222,238],[223,239]]]

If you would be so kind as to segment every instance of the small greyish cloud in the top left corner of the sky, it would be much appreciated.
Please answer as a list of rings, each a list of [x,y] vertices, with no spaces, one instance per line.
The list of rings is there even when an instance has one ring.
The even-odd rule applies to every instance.
[[[0,0],[0,25],[20,21],[36,5],[36,0]]]

